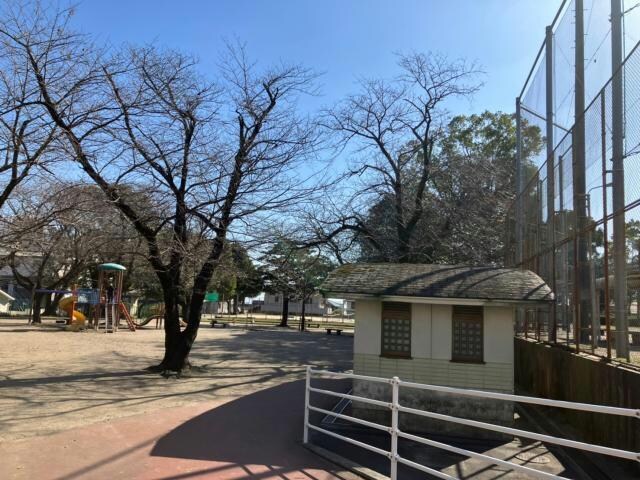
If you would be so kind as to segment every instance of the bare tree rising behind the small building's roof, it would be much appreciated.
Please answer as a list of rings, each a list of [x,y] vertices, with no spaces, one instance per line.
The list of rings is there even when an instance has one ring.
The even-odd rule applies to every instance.
[[[383,261],[414,261],[418,224],[432,202],[434,157],[444,135],[452,97],[479,88],[478,70],[462,60],[437,54],[399,57],[402,74],[393,81],[363,80],[360,92],[326,112],[324,125],[353,157],[348,181],[355,194],[344,204],[311,215],[316,233],[332,249],[339,236],[357,237]],[[376,230],[369,208],[384,204],[389,231]],[[336,215],[336,211],[339,212]],[[437,239],[443,232],[430,232]],[[313,244],[314,242],[308,243]],[[346,246],[350,246],[346,242]]]

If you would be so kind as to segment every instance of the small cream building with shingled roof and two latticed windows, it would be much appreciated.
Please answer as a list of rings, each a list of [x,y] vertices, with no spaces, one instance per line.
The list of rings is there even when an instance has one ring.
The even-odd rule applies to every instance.
[[[553,300],[530,271],[432,264],[343,265],[322,291],[355,300],[354,373],[504,393],[514,391],[516,306],[546,308]],[[387,385],[373,382],[354,382],[354,393],[390,398]],[[400,400],[464,418],[513,420],[507,402],[408,389],[401,390]],[[383,414],[370,405],[353,408],[363,417]],[[434,426],[415,416],[404,420],[414,430],[454,425]]]

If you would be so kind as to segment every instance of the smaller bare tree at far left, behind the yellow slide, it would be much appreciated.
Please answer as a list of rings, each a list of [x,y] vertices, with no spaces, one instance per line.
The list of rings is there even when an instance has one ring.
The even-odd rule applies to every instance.
[[[57,293],[49,302],[51,295],[40,290],[70,288],[109,242],[104,227],[115,212],[97,204],[95,193],[95,187],[49,181],[16,189],[6,204],[0,224],[2,262],[32,293],[34,323],[40,323],[43,298],[49,314],[62,298]]]

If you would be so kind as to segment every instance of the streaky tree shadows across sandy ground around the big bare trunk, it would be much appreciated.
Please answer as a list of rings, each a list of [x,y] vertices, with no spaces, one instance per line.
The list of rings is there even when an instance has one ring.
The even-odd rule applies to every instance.
[[[100,417],[114,407],[126,407],[118,412],[142,413],[161,405],[226,401],[302,378],[307,364],[332,370],[352,365],[351,337],[239,329],[222,337],[201,334],[192,354],[199,368],[181,379],[144,372],[141,368],[147,366],[148,357],[142,364],[130,353],[116,350],[99,361],[87,358],[82,371],[77,365],[68,371],[66,364],[52,362],[38,365],[35,375],[28,365],[2,372],[0,438],[55,433],[66,428],[67,420],[83,424],[80,417],[90,419],[94,412]]]

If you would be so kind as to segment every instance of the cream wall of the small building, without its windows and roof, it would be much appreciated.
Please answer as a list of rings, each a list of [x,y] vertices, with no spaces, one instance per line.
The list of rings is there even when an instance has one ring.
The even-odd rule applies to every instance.
[[[355,309],[354,373],[376,377],[398,376],[402,380],[461,388],[476,388],[512,393],[513,384],[513,309],[485,307],[484,363],[451,361],[451,305],[414,303],[411,306],[411,358],[381,356],[382,303],[358,300]],[[368,398],[390,400],[388,385],[354,382],[354,393]],[[401,389],[400,402],[409,407],[426,409],[463,418],[474,418],[501,424],[513,421],[513,405],[509,402],[472,399],[423,390]],[[388,412],[369,405],[354,404],[354,413],[374,421],[388,421]],[[468,436],[483,435],[477,429],[466,429],[414,415],[402,415],[401,428],[412,431],[438,431]]]

